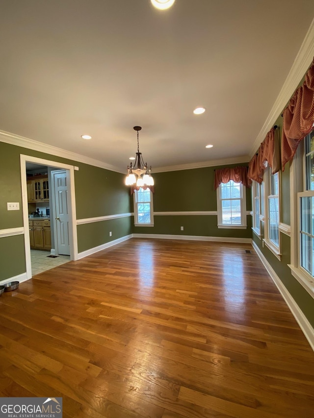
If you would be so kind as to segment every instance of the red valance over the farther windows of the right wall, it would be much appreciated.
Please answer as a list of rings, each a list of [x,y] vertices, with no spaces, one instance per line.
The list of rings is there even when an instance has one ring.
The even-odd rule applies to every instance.
[[[258,152],[249,162],[248,177],[261,184],[267,166],[271,167],[272,174],[280,170],[280,133],[277,126],[270,129]]]

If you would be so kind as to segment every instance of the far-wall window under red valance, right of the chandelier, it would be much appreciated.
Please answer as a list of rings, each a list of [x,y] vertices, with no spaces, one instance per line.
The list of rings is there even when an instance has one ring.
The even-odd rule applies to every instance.
[[[230,180],[217,188],[218,228],[246,228],[246,195],[242,183]]]

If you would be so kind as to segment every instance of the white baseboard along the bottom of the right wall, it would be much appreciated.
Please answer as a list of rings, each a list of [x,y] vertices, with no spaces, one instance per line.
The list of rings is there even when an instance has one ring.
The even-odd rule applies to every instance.
[[[252,240],[252,245],[257,255],[260,257],[268,274],[270,275],[273,282],[277,286],[277,289],[279,290],[285,302],[287,303],[288,308],[290,309],[292,315],[294,316],[295,320],[299,324],[303,334],[305,335],[306,339],[308,340],[309,344],[311,345],[314,351],[314,328],[312,327],[311,323],[308,321],[304,313],[301,311],[296,301],[290,295],[287,288],[285,287],[283,282],[280,280],[279,276],[276,274],[275,270],[268,263],[265,256],[262,254],[260,248],[255,244],[253,240]]]

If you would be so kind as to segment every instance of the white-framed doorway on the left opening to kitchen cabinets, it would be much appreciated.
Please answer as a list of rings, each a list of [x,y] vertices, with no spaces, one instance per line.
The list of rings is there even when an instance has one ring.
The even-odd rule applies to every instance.
[[[27,181],[26,170],[27,172],[30,172],[31,169],[35,170],[38,177],[44,177],[47,175],[46,178],[49,184],[50,193],[50,196],[46,193],[45,195],[42,194],[39,198],[37,195],[36,202],[34,202],[34,204],[30,203],[27,198],[27,186],[29,186],[29,180]],[[41,176],[41,172],[44,175]],[[26,275],[27,278],[31,278],[39,272],[49,270],[70,260],[76,260],[78,257],[74,198],[74,167],[55,161],[21,155],[21,177],[23,220],[25,230]],[[54,177],[58,181],[54,181]],[[57,197],[55,197],[55,191],[57,190],[55,189],[55,186],[58,188]],[[41,190],[43,191],[43,186],[41,187]],[[56,208],[56,204],[58,205],[58,209],[62,209],[61,215],[62,217],[66,216],[66,220],[61,217],[58,209]],[[56,222],[60,222],[60,225]],[[38,228],[42,230],[38,231],[36,226],[31,225],[33,223],[36,225],[40,224]],[[41,227],[42,224],[47,225]],[[50,233],[51,243],[49,243],[47,239],[48,234]],[[61,239],[60,233],[62,234]],[[39,241],[36,241],[36,245],[39,246],[40,249],[38,250],[36,245],[34,246],[34,242],[31,241],[34,239],[34,234],[37,234],[37,236],[43,236],[43,245],[46,251],[41,248],[42,244],[40,238]],[[30,245],[31,242],[32,248]],[[50,249],[50,251],[47,249]]]

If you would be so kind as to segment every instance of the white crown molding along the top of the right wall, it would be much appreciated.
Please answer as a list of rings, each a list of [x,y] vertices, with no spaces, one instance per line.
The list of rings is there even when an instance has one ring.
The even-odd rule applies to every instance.
[[[265,123],[262,126],[260,133],[258,134],[253,147],[250,152],[250,159],[256,153],[261,143],[266,137],[267,132],[272,128],[276,122],[278,116],[283,112],[288,100],[293,95],[294,91],[298,87],[299,82],[302,80],[304,74],[308,71],[314,56],[314,19],[309,27],[309,30],[302,42],[301,48],[294,59],[289,74],[284,82],[280,93],[267,116]]]

